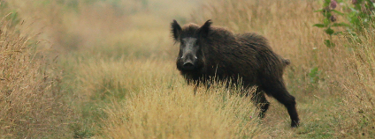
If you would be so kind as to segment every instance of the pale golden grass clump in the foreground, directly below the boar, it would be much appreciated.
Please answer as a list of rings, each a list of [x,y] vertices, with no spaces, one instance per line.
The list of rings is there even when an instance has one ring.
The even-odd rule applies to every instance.
[[[141,71],[148,71],[154,64],[157,63],[138,65]],[[112,101],[106,110],[109,117],[104,135],[114,138],[256,136],[257,124],[251,119],[256,113],[249,99],[230,95],[224,88],[196,96],[187,93],[192,88],[187,88],[181,78],[176,79],[177,74],[169,74],[172,67],[170,64],[157,71],[158,74],[142,73],[146,80],[150,76],[151,81],[129,91],[125,101]],[[160,71],[165,71],[162,73],[165,76],[153,77],[160,75]],[[205,92],[203,88],[200,91]]]

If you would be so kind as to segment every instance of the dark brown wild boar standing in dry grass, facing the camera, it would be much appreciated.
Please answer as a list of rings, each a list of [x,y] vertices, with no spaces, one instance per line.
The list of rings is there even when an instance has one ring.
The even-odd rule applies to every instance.
[[[264,117],[270,106],[265,92],[287,107],[291,126],[297,127],[300,120],[295,97],[289,94],[282,78],[289,60],[275,54],[263,36],[234,34],[211,24],[208,20],[203,26],[180,27],[176,20],[172,22],[173,39],[180,42],[177,69],[188,84],[208,84],[210,79],[216,78],[220,81],[230,79],[234,84],[239,84],[236,81],[240,79],[245,89],[256,85],[252,99],[261,110],[260,117]]]

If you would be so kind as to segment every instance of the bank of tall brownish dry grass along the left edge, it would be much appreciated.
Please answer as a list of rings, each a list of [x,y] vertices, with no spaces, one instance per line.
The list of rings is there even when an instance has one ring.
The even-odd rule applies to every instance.
[[[0,138],[70,136],[72,112],[61,99],[59,74],[36,51],[42,43],[23,32],[27,25],[6,18],[0,21]]]

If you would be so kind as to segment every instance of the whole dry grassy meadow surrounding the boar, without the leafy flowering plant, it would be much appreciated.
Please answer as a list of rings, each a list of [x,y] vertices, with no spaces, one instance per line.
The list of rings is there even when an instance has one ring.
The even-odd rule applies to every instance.
[[[0,138],[375,136],[375,23],[328,48],[313,26],[322,1],[0,2]],[[260,120],[236,87],[194,95],[175,66],[172,19],[264,35],[291,61],[300,127],[272,98]]]

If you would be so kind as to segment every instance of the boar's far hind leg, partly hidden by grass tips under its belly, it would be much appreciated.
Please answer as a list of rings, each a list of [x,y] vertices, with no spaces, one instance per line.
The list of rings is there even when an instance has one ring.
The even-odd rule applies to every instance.
[[[256,107],[259,108],[259,117],[264,118],[264,113],[268,110],[270,102],[265,99],[264,91],[259,88],[252,94],[251,100],[255,103]]]

